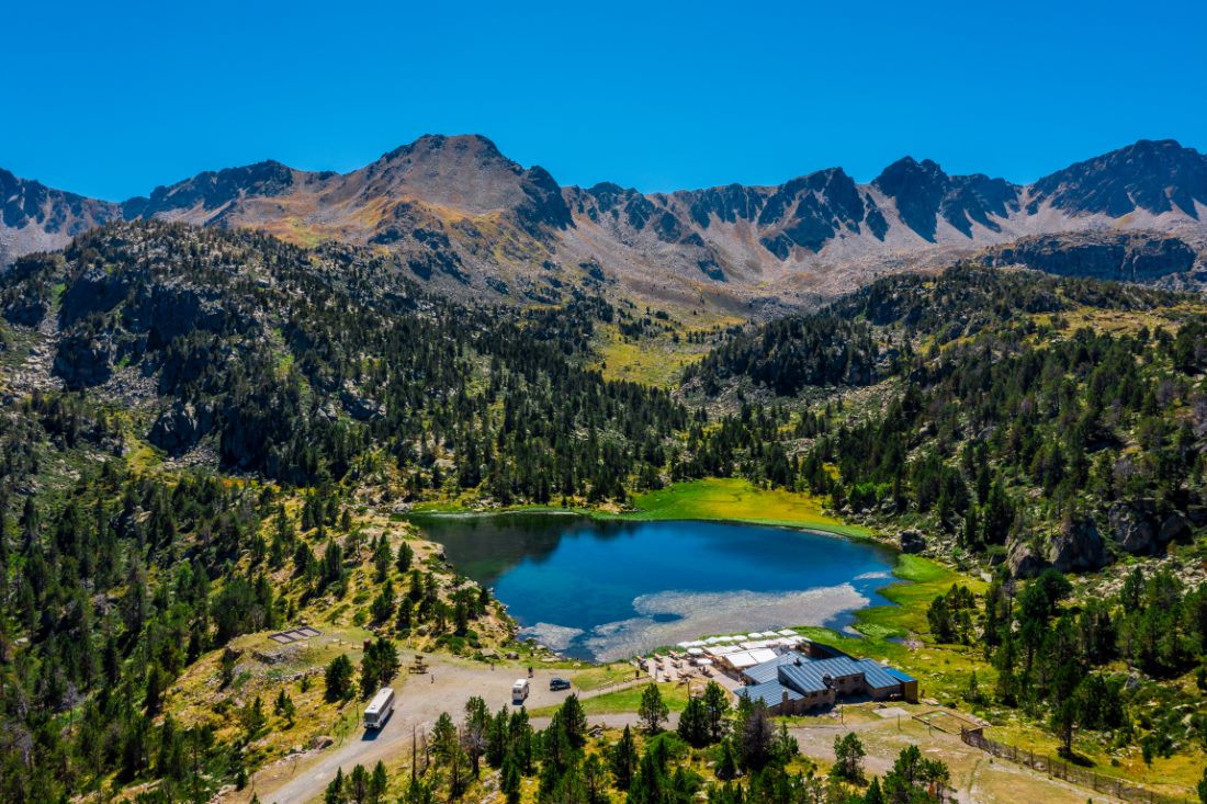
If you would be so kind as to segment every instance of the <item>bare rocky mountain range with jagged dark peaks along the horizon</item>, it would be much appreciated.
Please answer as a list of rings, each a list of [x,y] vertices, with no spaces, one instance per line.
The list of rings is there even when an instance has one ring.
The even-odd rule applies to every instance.
[[[614,183],[560,186],[479,135],[425,135],[351,173],[279,162],[205,171],[122,203],[86,198],[0,170],[0,267],[113,220],[251,227],[313,245],[381,249],[453,295],[554,303],[572,287],[746,314],[807,305],[876,275],[939,267],[995,247],[997,262],[1062,252],[1073,233],[1123,239],[1113,254],[1155,254],[1145,279],[1203,266],[1207,156],[1141,140],[1030,185],[949,175],[905,157],[870,183],[841,168],[777,186],[641,193]],[[1002,249],[1020,238],[1044,247]],[[1180,245],[1153,247],[1151,240]],[[1092,251],[1092,249],[1091,249]],[[1180,255],[1166,261],[1165,254]],[[1184,258],[1190,254],[1189,266]],[[1080,260],[1080,258],[1079,258]],[[1057,262],[1061,262],[1057,260]],[[1065,261],[1077,273],[1078,261]],[[1043,267],[1043,266],[1034,266]],[[1118,272],[1126,276],[1129,269]]]

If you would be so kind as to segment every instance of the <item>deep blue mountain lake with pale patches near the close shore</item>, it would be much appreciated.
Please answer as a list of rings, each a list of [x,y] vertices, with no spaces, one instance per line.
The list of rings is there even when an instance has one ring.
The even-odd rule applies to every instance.
[[[538,641],[620,658],[709,634],[845,628],[887,602],[893,555],[798,530],[511,513],[414,517]]]

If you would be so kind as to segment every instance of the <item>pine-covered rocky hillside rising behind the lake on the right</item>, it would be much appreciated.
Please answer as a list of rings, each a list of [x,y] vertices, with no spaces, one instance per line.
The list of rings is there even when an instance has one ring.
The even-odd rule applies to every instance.
[[[1015,575],[1086,570],[1207,523],[1205,313],[1193,295],[960,266],[747,331],[687,377],[781,406],[830,386],[766,478],[919,518],[956,549],[1009,548]]]

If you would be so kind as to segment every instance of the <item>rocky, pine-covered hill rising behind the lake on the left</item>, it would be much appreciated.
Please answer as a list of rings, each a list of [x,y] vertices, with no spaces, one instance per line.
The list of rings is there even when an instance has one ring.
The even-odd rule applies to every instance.
[[[2,305],[66,389],[146,419],[136,436],[173,455],[212,443],[221,468],[288,483],[389,465],[505,502],[623,497],[687,421],[665,391],[571,360],[607,305],[460,305],[354,246],[110,225],[21,260]],[[49,379],[30,369],[13,385]]]

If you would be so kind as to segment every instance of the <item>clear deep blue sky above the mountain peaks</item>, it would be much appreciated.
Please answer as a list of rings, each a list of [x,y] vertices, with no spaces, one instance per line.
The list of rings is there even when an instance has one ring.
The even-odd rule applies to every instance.
[[[0,167],[121,199],[269,157],[349,170],[424,133],[646,191],[1207,150],[1202,0],[577,5],[13,0]]]

